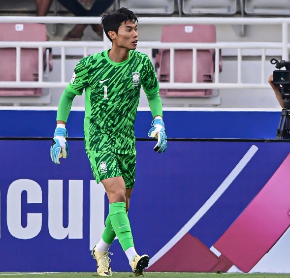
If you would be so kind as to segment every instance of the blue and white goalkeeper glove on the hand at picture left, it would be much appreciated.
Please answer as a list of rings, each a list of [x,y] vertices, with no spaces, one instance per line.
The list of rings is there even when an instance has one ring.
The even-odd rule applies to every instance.
[[[50,157],[55,164],[60,164],[60,158],[68,156],[68,145],[65,140],[67,137],[67,130],[64,124],[57,124],[50,147]]]

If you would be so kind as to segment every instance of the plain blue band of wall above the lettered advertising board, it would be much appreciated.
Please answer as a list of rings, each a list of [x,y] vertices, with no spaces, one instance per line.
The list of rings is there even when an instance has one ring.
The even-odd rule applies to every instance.
[[[267,111],[164,111],[171,138],[253,138],[275,139],[280,112]],[[83,111],[71,111],[69,137],[83,137]],[[51,137],[56,111],[0,110],[0,137]],[[152,116],[138,111],[136,137],[147,137]]]

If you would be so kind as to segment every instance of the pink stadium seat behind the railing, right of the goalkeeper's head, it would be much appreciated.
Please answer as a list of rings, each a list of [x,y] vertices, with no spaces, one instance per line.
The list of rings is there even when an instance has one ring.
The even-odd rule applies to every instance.
[[[161,42],[216,42],[216,28],[214,25],[166,25],[163,26]],[[197,82],[213,82],[215,70],[215,50],[197,50]],[[174,82],[193,82],[193,51],[176,49],[174,52]],[[170,51],[160,49],[155,58],[155,68],[160,82],[170,79]],[[220,68],[222,62],[220,60]],[[211,89],[161,89],[161,96],[202,96],[213,95]]]

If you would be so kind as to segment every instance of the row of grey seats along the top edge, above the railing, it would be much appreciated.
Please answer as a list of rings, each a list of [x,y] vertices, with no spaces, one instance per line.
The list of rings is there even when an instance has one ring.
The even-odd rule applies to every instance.
[[[35,12],[35,1],[2,0],[0,12]],[[129,7],[136,14],[142,15],[172,15],[178,12],[180,16],[190,15],[289,15],[289,0],[116,0],[116,7]],[[64,14],[65,8],[57,1],[52,5],[51,12]]]

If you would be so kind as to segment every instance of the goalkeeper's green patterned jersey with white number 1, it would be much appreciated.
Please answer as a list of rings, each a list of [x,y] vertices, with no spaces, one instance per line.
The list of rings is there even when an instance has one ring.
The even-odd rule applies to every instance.
[[[143,87],[153,116],[161,115],[159,84],[149,57],[129,51],[125,62],[113,62],[109,50],[80,60],[66,90],[85,93],[85,147],[118,154],[135,152],[134,122]],[[157,101],[154,101],[157,100]],[[158,103],[152,107],[152,103]],[[155,115],[156,114],[156,115]]]

